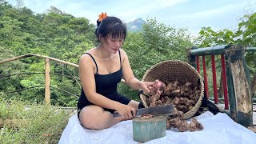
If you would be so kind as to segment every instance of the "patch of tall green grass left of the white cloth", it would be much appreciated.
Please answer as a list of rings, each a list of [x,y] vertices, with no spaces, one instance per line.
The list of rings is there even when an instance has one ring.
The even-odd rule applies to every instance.
[[[29,107],[28,107],[29,105]],[[0,143],[58,143],[71,110],[0,99]],[[6,123],[7,120],[17,120]]]

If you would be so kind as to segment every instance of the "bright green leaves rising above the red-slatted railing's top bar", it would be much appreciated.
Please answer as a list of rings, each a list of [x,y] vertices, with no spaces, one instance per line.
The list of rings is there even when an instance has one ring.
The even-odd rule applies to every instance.
[[[256,13],[245,15],[238,23],[238,30],[211,30],[210,27],[202,27],[199,32],[198,46],[218,46],[238,43],[243,46],[255,46],[256,44]]]

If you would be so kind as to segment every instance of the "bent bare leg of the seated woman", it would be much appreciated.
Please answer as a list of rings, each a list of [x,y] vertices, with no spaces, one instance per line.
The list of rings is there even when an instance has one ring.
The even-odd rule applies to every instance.
[[[94,130],[109,128],[126,119],[122,116],[113,118],[110,112],[94,105],[84,107],[79,114],[79,118],[83,126]]]

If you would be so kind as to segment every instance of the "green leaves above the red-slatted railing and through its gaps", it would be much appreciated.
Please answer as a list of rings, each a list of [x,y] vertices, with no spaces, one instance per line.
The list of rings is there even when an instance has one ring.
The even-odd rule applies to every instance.
[[[198,47],[208,47],[208,46],[219,46],[219,45],[227,45],[227,44],[242,44],[243,46],[250,47],[256,46],[256,13],[245,15],[240,19],[238,23],[238,30],[218,30],[214,31],[210,27],[203,27],[199,32],[199,37],[197,39]],[[246,52],[246,63],[250,68],[250,76],[256,73],[256,52]],[[219,57],[216,57],[216,61],[220,61]],[[206,58],[206,63],[208,66],[211,65],[210,58]],[[221,78],[220,72],[221,66],[219,63],[216,65],[218,77]],[[212,92],[212,75],[211,69],[208,68],[207,72],[209,79],[209,88],[210,92]],[[217,80],[220,82],[220,79]]]

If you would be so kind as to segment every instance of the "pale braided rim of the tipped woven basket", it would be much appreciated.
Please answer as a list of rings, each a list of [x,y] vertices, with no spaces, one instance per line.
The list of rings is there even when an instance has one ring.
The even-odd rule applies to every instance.
[[[189,111],[187,111],[185,114],[184,114],[184,119],[188,119],[188,118],[191,118],[194,116],[194,114],[196,114],[196,112],[198,111],[199,107],[201,106],[202,104],[202,98],[204,96],[204,83],[202,81],[202,77],[201,75],[198,73],[198,70],[196,70],[193,66],[191,66],[189,63],[187,62],[184,62],[182,60],[166,60],[166,61],[162,61],[162,62],[158,62],[156,64],[154,64],[154,66],[151,66],[150,69],[146,70],[146,73],[143,75],[142,77],[142,82],[145,82],[145,79],[146,77],[148,76],[148,74],[150,73],[151,70],[154,70],[154,68],[158,67],[159,65],[162,65],[164,63],[172,63],[172,62],[179,62],[181,63],[182,65],[186,65],[186,66],[189,66],[189,68],[191,70],[194,70],[194,74],[196,74],[198,76],[198,79],[200,80],[200,86],[201,86],[201,90],[200,90],[200,96],[198,98],[198,102],[196,102],[195,106],[193,106],[193,108]],[[142,101],[142,104],[145,106],[145,107],[148,107],[146,105],[146,100],[144,100],[144,97],[145,95],[144,94],[139,94],[139,98],[141,99]]]

